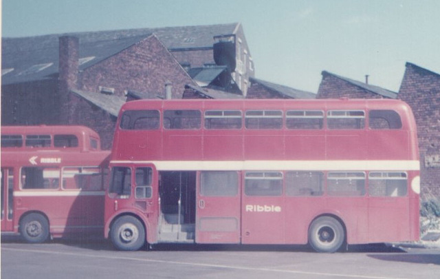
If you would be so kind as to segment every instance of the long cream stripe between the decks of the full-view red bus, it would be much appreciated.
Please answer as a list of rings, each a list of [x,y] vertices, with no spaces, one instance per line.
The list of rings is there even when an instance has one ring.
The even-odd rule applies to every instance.
[[[111,161],[112,164],[153,164],[159,171],[203,170],[298,170],[298,171],[418,171],[419,161]]]

